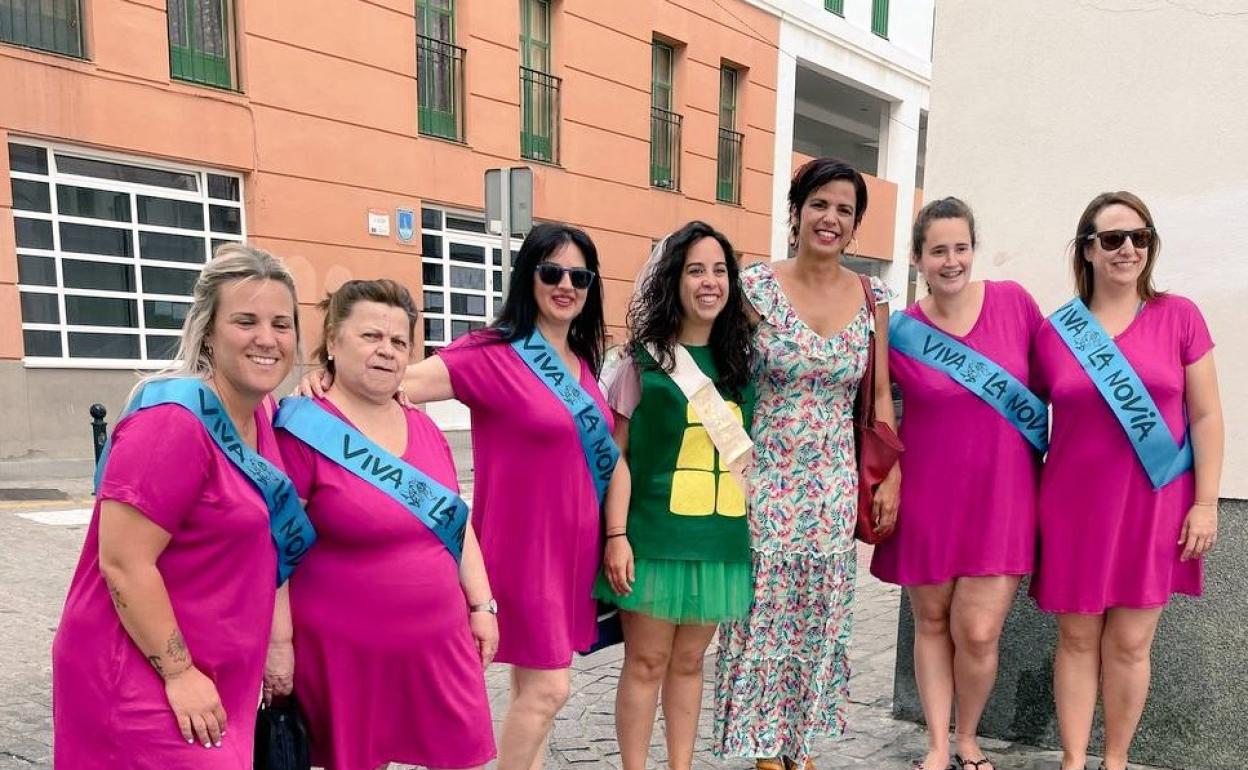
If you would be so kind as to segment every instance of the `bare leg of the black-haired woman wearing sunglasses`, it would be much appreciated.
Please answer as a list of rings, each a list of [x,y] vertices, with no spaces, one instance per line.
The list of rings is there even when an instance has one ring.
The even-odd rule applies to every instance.
[[[512,666],[512,703],[503,718],[498,770],[540,770],[554,715],[568,701],[569,669]]]

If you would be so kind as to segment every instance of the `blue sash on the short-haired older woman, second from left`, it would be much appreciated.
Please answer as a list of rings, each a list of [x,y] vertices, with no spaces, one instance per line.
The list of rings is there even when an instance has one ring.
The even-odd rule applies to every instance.
[[[459,562],[468,504],[458,494],[382,449],[311,398],[283,398],[273,426],[384,492],[428,527]]]

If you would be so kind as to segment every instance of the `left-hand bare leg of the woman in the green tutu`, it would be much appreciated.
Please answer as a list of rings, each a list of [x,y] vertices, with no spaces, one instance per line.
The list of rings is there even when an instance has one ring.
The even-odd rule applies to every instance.
[[[623,610],[620,621],[624,625],[624,665],[615,690],[615,739],[624,770],[645,770],[659,688],[671,660],[676,625]]]

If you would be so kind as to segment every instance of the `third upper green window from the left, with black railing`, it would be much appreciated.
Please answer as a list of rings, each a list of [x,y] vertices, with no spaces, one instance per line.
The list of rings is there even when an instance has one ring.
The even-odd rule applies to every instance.
[[[454,0],[417,0],[416,87],[421,134],[463,141],[464,54],[456,45]]]

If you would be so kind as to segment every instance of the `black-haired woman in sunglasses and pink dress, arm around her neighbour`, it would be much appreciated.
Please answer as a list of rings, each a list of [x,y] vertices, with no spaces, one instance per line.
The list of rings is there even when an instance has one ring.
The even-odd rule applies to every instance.
[[[494,593],[480,609],[498,614],[494,660],[512,664],[498,768],[529,770],[568,699],[573,651],[595,641],[600,509],[628,494],[629,479],[597,382],[605,326],[594,242],[538,225],[508,291],[489,328],[408,366],[403,391],[412,403],[456,398],[472,414],[472,520]],[[326,379],[310,374],[303,389],[318,394]]]

